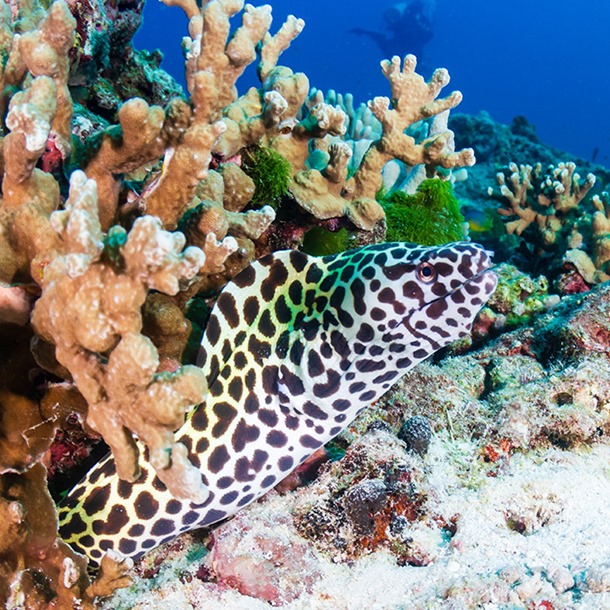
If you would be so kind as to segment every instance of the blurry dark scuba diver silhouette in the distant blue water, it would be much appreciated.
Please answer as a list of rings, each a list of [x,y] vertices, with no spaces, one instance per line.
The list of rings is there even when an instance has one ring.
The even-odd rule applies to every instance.
[[[386,31],[378,32],[363,28],[350,30],[371,38],[383,52],[385,58],[401,57],[412,53],[421,62],[424,47],[432,40],[434,3],[412,0],[394,4],[383,14]]]

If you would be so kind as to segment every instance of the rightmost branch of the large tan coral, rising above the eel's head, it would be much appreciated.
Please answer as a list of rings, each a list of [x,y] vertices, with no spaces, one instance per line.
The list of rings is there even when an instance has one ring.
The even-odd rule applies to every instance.
[[[297,172],[291,185],[291,192],[299,204],[316,217],[346,215],[357,227],[366,230],[384,218],[375,195],[382,186],[382,170],[389,161],[398,160],[409,167],[424,166],[426,172],[423,177],[434,175],[437,167],[474,164],[471,149],[454,152],[453,134],[446,128],[430,129],[420,141],[407,133],[407,129],[419,121],[442,115],[460,103],[462,96],[459,92],[437,99],[449,82],[447,71],[436,70],[426,83],[415,72],[413,55],[405,57],[402,68],[399,57],[382,62],[381,67],[390,82],[392,101],[378,97],[369,102],[369,109],[381,124],[381,135],[370,141],[353,176],[347,179],[352,145],[335,140],[326,147],[326,167]],[[319,106],[314,105],[310,115],[316,116],[319,113],[317,108]],[[333,122],[336,123],[336,118],[326,119],[321,124]]]

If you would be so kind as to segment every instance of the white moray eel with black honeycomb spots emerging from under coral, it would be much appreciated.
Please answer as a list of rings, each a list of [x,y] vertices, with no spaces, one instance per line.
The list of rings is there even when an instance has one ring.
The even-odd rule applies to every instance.
[[[93,563],[108,549],[137,559],[233,515],[464,337],[495,290],[490,266],[485,250],[461,242],[256,261],[216,302],[199,354],[208,395],[176,432],[207,500],[172,497],[144,451],[135,483],[118,479],[109,456],[63,501],[61,536]]]

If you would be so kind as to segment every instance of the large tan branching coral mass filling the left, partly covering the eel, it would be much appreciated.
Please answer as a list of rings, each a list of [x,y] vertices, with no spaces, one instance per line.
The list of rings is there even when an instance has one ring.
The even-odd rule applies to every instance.
[[[429,176],[474,161],[469,149],[453,151],[442,127],[423,138],[404,133],[459,103],[458,93],[438,98],[446,71],[426,83],[412,56],[382,64],[392,101],[370,103],[381,129],[366,131],[369,147],[349,169],[345,112],[320,99],[306,104],[307,77],[278,65],[302,20],[289,17],[271,35],[267,6],[246,5],[233,28],[241,0],[166,3],[189,18],[188,101],[122,99],[111,125],[125,87],[103,99],[109,83],[95,70],[109,70],[108,57],[119,54],[103,37],[114,28],[110,44],[130,47],[125,37],[141,4],[115,11],[34,0],[13,12],[0,3],[0,330],[7,338],[0,350],[9,363],[0,367],[0,590],[17,605],[25,596],[35,609],[49,600],[89,608],[125,584],[127,565],[112,557],[90,584],[80,558],[56,539],[39,462],[48,463],[54,433],[71,413],[103,437],[123,478],[137,477],[138,454],[148,451],[176,496],[199,497],[200,478],[174,440],[185,411],[206,392],[201,370],[181,362],[190,329],[184,310],[192,296],[213,297],[272,247],[299,245],[304,231],[296,240],[298,231],[276,231],[270,240],[276,212],[265,204],[296,204],[308,217],[303,226],[337,220],[344,224],[333,230],[375,229],[377,238],[384,213],[375,194],[387,161],[421,165]],[[136,61],[133,49],[127,54]],[[257,57],[261,87],[238,97],[237,80]],[[286,173],[269,192],[240,167],[263,149]],[[315,151],[324,162],[313,168]],[[34,387],[32,371],[42,379]]]

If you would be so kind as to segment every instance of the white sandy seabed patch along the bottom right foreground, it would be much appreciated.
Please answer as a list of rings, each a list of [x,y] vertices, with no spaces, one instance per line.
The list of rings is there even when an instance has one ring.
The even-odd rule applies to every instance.
[[[451,449],[452,451],[449,451]],[[425,567],[398,566],[382,550],[350,563],[318,553],[321,576],[290,610],[610,608],[610,447],[556,448],[515,456],[502,475],[477,490],[463,485],[449,457],[455,447],[433,441],[426,458],[434,507],[459,514],[449,544]],[[449,459],[448,459],[449,458]],[[298,495],[298,494],[297,494]],[[246,509],[252,527],[290,511],[293,498],[272,494]],[[440,506],[442,504],[442,506]],[[432,507],[430,507],[432,508]],[[507,527],[507,512],[528,530]],[[107,610],[258,610],[269,603],[227,583],[182,582],[188,552],[167,558],[153,579],[140,579],[107,602]],[[185,580],[184,578],[182,580]],[[546,603],[546,605],[544,605]]]

